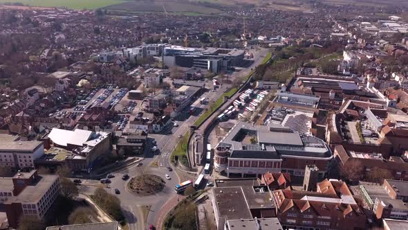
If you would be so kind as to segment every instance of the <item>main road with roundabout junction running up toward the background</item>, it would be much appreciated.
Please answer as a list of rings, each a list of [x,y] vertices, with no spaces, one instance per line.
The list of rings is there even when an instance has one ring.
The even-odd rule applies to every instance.
[[[232,73],[230,80],[247,76],[251,69],[262,62],[267,53],[268,49],[259,50],[255,53],[254,64],[246,69]],[[129,229],[145,229],[146,227],[149,227],[150,224],[154,224],[157,229],[161,229],[161,226],[157,225],[162,224],[167,212],[182,199],[182,197],[178,197],[178,195],[174,193],[174,186],[180,182],[178,173],[183,173],[184,175],[185,172],[176,172],[175,169],[171,172],[167,170],[167,167],[171,166],[169,163],[171,152],[176,148],[180,136],[187,134],[190,126],[193,125],[196,119],[205,111],[205,108],[210,103],[217,100],[228,88],[230,88],[230,85],[223,84],[219,89],[213,91],[212,81],[209,80],[206,82],[205,87],[207,88],[205,94],[196,98],[196,101],[192,103],[192,106],[196,107],[195,113],[192,116],[189,116],[186,112],[183,116],[176,118],[176,121],[174,122],[177,123],[177,125],[168,128],[171,129],[171,134],[149,134],[148,143],[145,147],[145,155],[142,156],[144,158],[140,161],[140,164],[134,163],[131,166],[113,172],[112,174],[115,175],[115,177],[111,179],[111,184],[109,185],[102,185],[97,180],[83,180],[82,186],[80,186],[80,192],[93,194],[95,188],[102,186],[106,191],[109,191],[109,193],[115,194],[114,189],[118,188],[120,194],[117,196],[121,201],[124,215],[129,222]],[[208,98],[209,103],[206,105],[201,105],[199,103],[199,100],[203,97]],[[169,130],[167,131],[169,132]],[[159,150],[156,151],[156,153],[152,153],[150,150],[153,146],[153,140],[156,141],[155,145]],[[122,180],[122,175],[128,174],[130,177],[134,177],[141,173],[158,175],[163,177],[163,179],[167,174],[171,179],[166,180],[165,188],[160,193],[147,196],[136,195],[127,190],[127,182],[129,179],[127,181]],[[186,177],[193,179],[194,175],[185,174],[183,178]],[[149,206],[150,209],[146,220],[144,220],[142,206],[146,205]]]

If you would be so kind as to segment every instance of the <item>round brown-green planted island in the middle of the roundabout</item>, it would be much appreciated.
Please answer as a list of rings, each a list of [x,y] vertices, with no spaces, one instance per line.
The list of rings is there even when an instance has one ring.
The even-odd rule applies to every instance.
[[[133,177],[127,184],[130,191],[138,195],[153,195],[165,188],[165,180],[152,174],[138,175]]]

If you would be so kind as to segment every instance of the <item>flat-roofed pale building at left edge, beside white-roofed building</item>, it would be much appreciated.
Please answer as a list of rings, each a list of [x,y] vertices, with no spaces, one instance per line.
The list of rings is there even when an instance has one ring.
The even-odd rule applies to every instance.
[[[0,134],[0,166],[34,168],[34,161],[44,155],[41,141],[19,141],[17,136]]]

